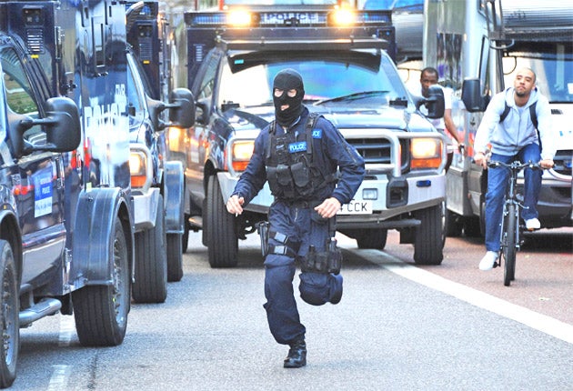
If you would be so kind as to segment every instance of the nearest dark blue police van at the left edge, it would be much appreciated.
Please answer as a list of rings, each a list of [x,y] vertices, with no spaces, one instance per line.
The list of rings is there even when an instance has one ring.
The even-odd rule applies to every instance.
[[[84,346],[126,335],[134,210],[125,10],[105,2],[0,3],[0,386],[19,328],[75,316]],[[81,37],[81,39],[80,39]]]

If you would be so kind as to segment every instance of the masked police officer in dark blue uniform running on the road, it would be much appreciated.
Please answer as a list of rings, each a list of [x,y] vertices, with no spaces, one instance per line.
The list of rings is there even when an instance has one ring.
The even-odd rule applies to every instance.
[[[341,256],[332,238],[334,220],[364,178],[363,158],[326,118],[309,113],[302,104],[304,95],[297,71],[285,69],[276,75],[276,119],[256,137],[251,161],[226,203],[229,213],[241,214],[266,181],[275,196],[264,249],[264,307],[276,342],[290,346],[286,368],[307,364],[306,328],[293,289],[295,261],[301,264],[303,300],[314,306],[340,301]]]

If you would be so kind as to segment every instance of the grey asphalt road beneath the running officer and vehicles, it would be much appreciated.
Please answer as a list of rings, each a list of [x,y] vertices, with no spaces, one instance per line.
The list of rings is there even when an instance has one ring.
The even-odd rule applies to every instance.
[[[384,252],[341,237],[343,299],[299,300],[308,364],[284,369],[287,348],[266,326],[256,237],[241,243],[236,268],[211,269],[193,245],[199,235],[166,303],[132,306],[123,345],[79,346],[72,316],[23,330],[12,389],[573,389],[570,238],[565,249],[518,253],[505,287],[501,270],[477,270],[479,241],[448,238],[443,265],[420,268],[392,231]]]

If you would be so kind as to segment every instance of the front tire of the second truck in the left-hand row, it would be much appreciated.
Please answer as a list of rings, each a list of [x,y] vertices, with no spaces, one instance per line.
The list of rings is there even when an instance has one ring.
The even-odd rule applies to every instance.
[[[132,295],[136,303],[163,303],[167,297],[166,219],[159,195],[156,226],[136,233],[136,267]]]

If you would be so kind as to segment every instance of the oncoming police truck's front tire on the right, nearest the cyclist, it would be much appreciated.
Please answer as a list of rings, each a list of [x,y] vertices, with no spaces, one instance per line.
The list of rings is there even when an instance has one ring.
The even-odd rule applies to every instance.
[[[443,205],[419,210],[415,216],[421,221],[414,239],[414,262],[417,265],[440,265],[444,258],[444,236],[446,235]]]

